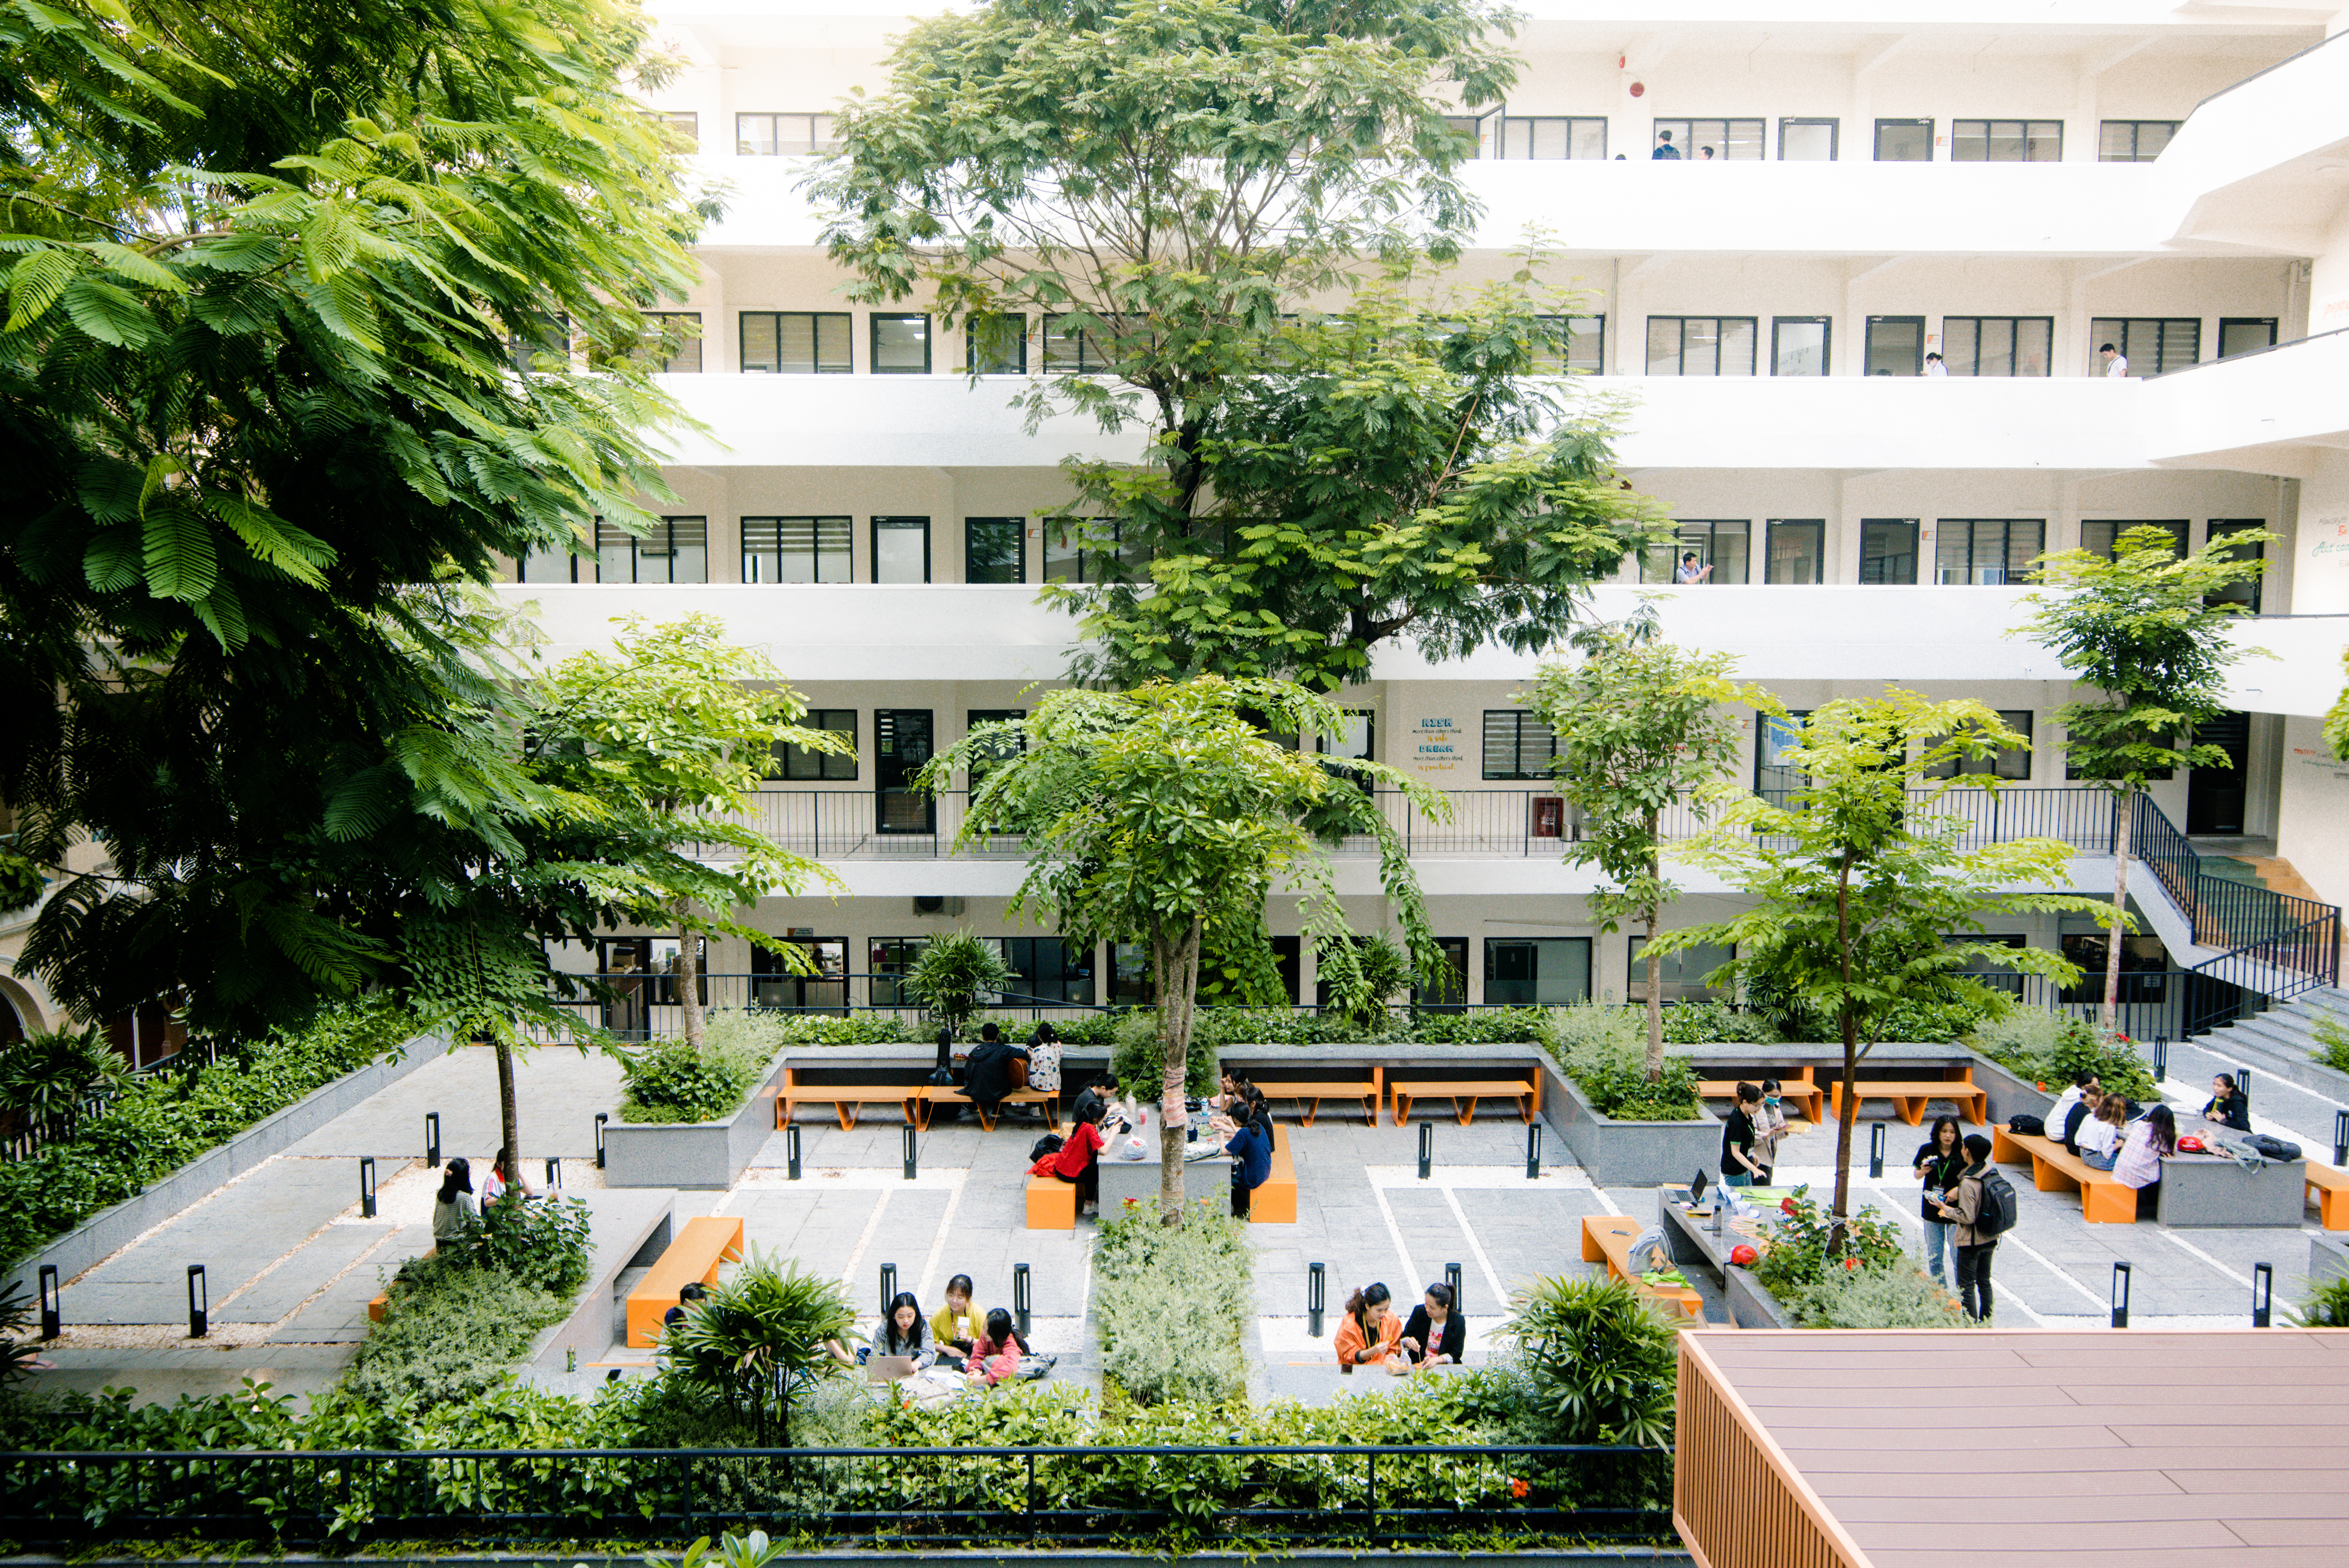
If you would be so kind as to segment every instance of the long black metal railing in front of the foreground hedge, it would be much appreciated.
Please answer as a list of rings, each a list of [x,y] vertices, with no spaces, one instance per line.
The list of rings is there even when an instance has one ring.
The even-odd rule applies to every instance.
[[[1670,1537],[1672,1455],[1621,1446],[538,1448],[9,1453],[0,1535],[1250,1547],[1470,1530]]]

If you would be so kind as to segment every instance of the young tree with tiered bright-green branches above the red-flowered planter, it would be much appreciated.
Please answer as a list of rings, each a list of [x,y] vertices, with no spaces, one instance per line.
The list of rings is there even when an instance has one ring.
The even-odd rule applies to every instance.
[[[2030,744],[1992,709],[1889,690],[1875,702],[1830,702],[1799,723],[1776,702],[1764,711],[1792,730],[1785,761],[1802,784],[1785,805],[1748,796],[1689,850],[1755,904],[1731,920],[1663,932],[1649,953],[1734,944],[1736,958],[1715,981],[1764,986],[1832,1016],[1844,1045],[1844,1106],[1858,1103],[1858,1066],[1900,1007],[1983,995],[1957,969],[1994,962],[2062,984],[2079,979],[2046,948],[1978,939],[1985,918],[2001,913],[2105,915],[2093,899],[2027,892],[2060,887],[2072,850],[2055,838],[1961,850],[1968,819],[1938,807],[1952,791],[1994,791],[1990,775],[1929,777],[1924,789],[1910,789],[1914,775],[1943,763]],[[1851,1214],[1851,1124],[1846,1115],[1835,1134],[1837,1246]]]

